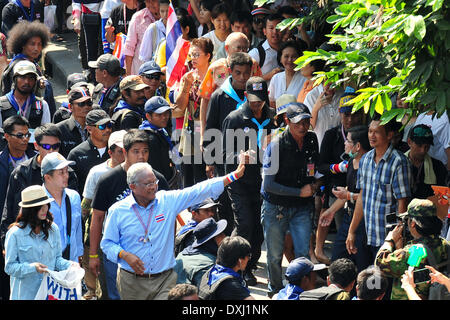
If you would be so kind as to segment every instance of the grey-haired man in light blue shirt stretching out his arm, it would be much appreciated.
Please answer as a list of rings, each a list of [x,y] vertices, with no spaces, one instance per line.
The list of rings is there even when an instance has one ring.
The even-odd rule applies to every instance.
[[[226,185],[244,174],[248,161],[247,152],[236,171],[227,176],[174,191],[158,191],[158,180],[148,163],[128,169],[132,193],[108,210],[100,243],[108,259],[119,265],[117,288],[123,300],[167,300],[177,279],[173,271],[176,216],[206,198],[219,197]]]

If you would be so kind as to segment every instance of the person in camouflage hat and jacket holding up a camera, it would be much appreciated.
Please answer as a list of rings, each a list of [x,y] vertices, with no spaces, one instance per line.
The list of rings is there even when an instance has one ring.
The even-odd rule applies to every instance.
[[[389,232],[375,260],[376,265],[387,276],[394,278],[391,300],[408,299],[406,292],[401,287],[401,276],[409,267],[407,261],[410,253],[408,250],[413,245],[424,244],[428,246],[437,264],[449,259],[448,246],[450,244],[439,236],[442,221],[436,216],[436,206],[430,200],[413,199],[408,205],[407,212],[400,216],[405,217],[403,223]],[[413,240],[403,246],[402,231],[406,226],[409,228]],[[423,258],[416,270],[424,268],[426,264],[430,265],[430,262],[427,258]],[[419,283],[416,285],[416,292],[426,299],[429,287],[428,282]]]

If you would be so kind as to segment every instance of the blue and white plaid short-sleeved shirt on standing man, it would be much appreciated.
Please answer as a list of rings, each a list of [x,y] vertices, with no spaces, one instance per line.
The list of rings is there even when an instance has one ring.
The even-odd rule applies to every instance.
[[[359,162],[356,187],[363,191],[367,244],[379,247],[386,238],[385,217],[397,211],[397,201],[411,196],[411,168],[408,159],[392,145],[378,164],[375,149]]]

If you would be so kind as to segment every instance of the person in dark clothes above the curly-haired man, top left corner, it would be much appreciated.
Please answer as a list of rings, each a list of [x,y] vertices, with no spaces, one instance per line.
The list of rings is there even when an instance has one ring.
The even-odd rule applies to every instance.
[[[8,35],[9,30],[22,20],[44,22],[44,6],[38,0],[13,0],[2,10],[2,33]]]

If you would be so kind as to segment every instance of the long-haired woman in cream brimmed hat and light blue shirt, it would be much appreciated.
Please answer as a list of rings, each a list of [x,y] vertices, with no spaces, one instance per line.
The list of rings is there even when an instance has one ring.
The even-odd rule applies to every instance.
[[[33,300],[43,273],[61,271],[71,262],[62,257],[59,228],[48,211],[50,202],[42,186],[22,191],[16,222],[11,224],[5,241],[5,272],[11,277],[11,300]]]

